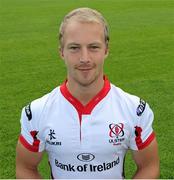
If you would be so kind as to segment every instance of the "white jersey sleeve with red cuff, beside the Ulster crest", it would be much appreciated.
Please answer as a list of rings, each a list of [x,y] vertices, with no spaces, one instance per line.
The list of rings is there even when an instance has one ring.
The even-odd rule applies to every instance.
[[[140,99],[136,108],[133,132],[130,138],[129,147],[132,150],[141,150],[147,147],[155,138],[152,128],[154,114],[149,105]]]

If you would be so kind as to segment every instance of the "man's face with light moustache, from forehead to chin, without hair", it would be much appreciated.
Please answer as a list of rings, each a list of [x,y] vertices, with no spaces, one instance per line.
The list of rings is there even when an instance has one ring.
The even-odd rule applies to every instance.
[[[67,24],[61,57],[67,66],[69,81],[88,86],[98,78],[103,78],[107,53],[101,24],[77,21]]]

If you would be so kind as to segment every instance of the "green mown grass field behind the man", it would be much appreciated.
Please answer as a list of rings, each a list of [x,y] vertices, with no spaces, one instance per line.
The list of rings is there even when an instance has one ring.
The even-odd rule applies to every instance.
[[[67,12],[82,6],[98,9],[108,20],[105,73],[151,105],[160,178],[174,178],[173,0],[0,0],[0,178],[15,178],[21,108],[66,77],[57,51],[58,27]],[[131,178],[130,154],[125,169]],[[40,170],[49,178],[46,156]]]

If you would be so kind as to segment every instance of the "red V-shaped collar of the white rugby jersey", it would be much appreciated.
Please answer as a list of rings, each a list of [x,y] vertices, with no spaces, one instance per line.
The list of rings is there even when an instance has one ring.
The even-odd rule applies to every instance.
[[[87,104],[83,105],[78,99],[76,99],[66,87],[67,80],[60,86],[60,91],[62,95],[76,108],[79,114],[91,114],[94,107],[108,94],[110,90],[110,82],[104,76],[104,86],[101,91],[92,98],[92,100]]]

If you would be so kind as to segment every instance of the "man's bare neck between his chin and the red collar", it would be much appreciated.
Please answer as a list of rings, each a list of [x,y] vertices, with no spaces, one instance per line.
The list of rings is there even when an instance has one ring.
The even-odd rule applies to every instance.
[[[89,85],[80,85],[72,79],[68,79],[67,88],[69,92],[78,99],[84,106],[97,95],[104,86],[103,76],[98,77],[94,82]]]

